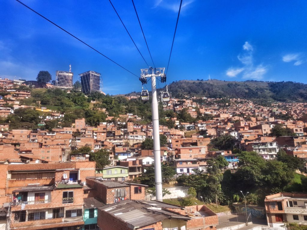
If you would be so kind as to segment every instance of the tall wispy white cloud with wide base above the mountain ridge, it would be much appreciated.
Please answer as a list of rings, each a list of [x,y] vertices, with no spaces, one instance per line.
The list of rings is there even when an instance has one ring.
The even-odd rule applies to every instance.
[[[226,71],[226,75],[232,78],[242,73],[243,79],[262,79],[267,72],[267,67],[262,64],[254,65],[253,51],[254,47],[246,41],[243,44],[243,52],[237,56],[243,67],[231,67]]]

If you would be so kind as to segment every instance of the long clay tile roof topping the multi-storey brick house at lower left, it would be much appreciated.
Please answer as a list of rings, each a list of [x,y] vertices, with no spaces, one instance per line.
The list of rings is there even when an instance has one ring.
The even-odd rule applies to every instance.
[[[56,170],[75,168],[76,163],[38,163],[38,164],[12,164],[8,166],[11,171],[26,171],[26,170]]]

